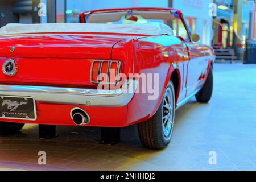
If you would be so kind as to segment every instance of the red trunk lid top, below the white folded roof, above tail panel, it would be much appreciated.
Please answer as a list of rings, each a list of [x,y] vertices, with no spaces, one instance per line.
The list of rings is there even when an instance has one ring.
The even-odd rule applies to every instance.
[[[122,38],[86,34],[17,34],[0,36],[0,57],[110,59]],[[11,47],[15,47],[13,52]]]

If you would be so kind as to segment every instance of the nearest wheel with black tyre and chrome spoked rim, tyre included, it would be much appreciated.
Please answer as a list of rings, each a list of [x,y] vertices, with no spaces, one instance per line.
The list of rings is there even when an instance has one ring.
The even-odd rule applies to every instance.
[[[172,81],[168,83],[164,98],[156,114],[138,124],[139,138],[144,147],[160,150],[171,142],[175,118],[175,91]]]

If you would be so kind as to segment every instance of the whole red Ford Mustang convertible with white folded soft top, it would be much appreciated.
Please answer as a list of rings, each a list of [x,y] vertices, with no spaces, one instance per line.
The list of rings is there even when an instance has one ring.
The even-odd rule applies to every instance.
[[[168,146],[175,110],[208,102],[214,51],[179,10],[102,9],[80,23],[0,29],[0,135],[24,123],[121,128],[144,147]]]

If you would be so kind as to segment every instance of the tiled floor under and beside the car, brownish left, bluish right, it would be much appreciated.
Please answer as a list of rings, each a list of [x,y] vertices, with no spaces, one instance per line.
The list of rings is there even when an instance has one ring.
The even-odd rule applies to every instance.
[[[0,137],[0,169],[34,170],[256,170],[256,66],[216,64],[209,104],[195,99],[177,110],[171,145],[162,151],[141,147],[137,127],[122,129],[116,146],[98,144],[100,129],[57,127],[58,138],[36,139],[27,125]],[[46,166],[38,152],[46,151]],[[209,164],[209,152],[217,164]]]

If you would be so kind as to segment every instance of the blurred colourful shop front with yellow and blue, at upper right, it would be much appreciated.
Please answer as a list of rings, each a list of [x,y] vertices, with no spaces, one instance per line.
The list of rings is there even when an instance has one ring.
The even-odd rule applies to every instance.
[[[217,17],[213,19],[213,45],[244,47],[249,35],[249,1],[214,2],[217,3]]]

